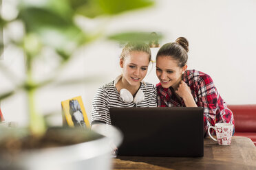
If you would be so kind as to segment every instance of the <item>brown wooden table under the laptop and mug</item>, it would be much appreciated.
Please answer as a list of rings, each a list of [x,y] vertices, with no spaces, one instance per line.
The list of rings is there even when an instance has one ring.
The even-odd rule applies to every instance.
[[[113,169],[256,169],[256,147],[250,138],[233,136],[230,146],[220,146],[211,138],[204,139],[204,157],[118,156]]]

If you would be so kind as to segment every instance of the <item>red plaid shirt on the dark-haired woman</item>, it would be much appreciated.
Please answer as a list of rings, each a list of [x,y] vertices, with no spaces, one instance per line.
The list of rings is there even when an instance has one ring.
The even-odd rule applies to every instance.
[[[225,101],[220,97],[213,80],[209,75],[195,70],[187,70],[183,75],[183,81],[191,89],[191,93],[197,106],[204,108],[204,132],[207,135],[209,126],[215,123],[233,123],[233,112],[226,106]],[[184,101],[178,98],[172,87],[163,88],[159,83],[158,107],[186,107]],[[211,131],[213,134],[213,131]]]

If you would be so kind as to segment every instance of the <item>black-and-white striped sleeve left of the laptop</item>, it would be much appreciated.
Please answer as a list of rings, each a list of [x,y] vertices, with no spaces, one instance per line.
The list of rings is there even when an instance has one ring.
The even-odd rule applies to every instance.
[[[96,121],[110,122],[108,100],[107,91],[104,88],[98,88],[92,101],[92,124]]]

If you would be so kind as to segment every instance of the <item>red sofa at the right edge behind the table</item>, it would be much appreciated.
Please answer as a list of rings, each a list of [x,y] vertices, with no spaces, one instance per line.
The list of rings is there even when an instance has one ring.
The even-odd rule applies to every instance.
[[[256,104],[228,105],[235,118],[234,136],[250,138],[256,146]]]

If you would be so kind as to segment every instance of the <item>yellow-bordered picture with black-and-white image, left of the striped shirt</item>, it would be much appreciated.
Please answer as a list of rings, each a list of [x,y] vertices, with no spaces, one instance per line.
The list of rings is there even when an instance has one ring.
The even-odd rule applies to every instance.
[[[90,128],[81,96],[61,101],[61,106],[63,110],[63,125]]]

